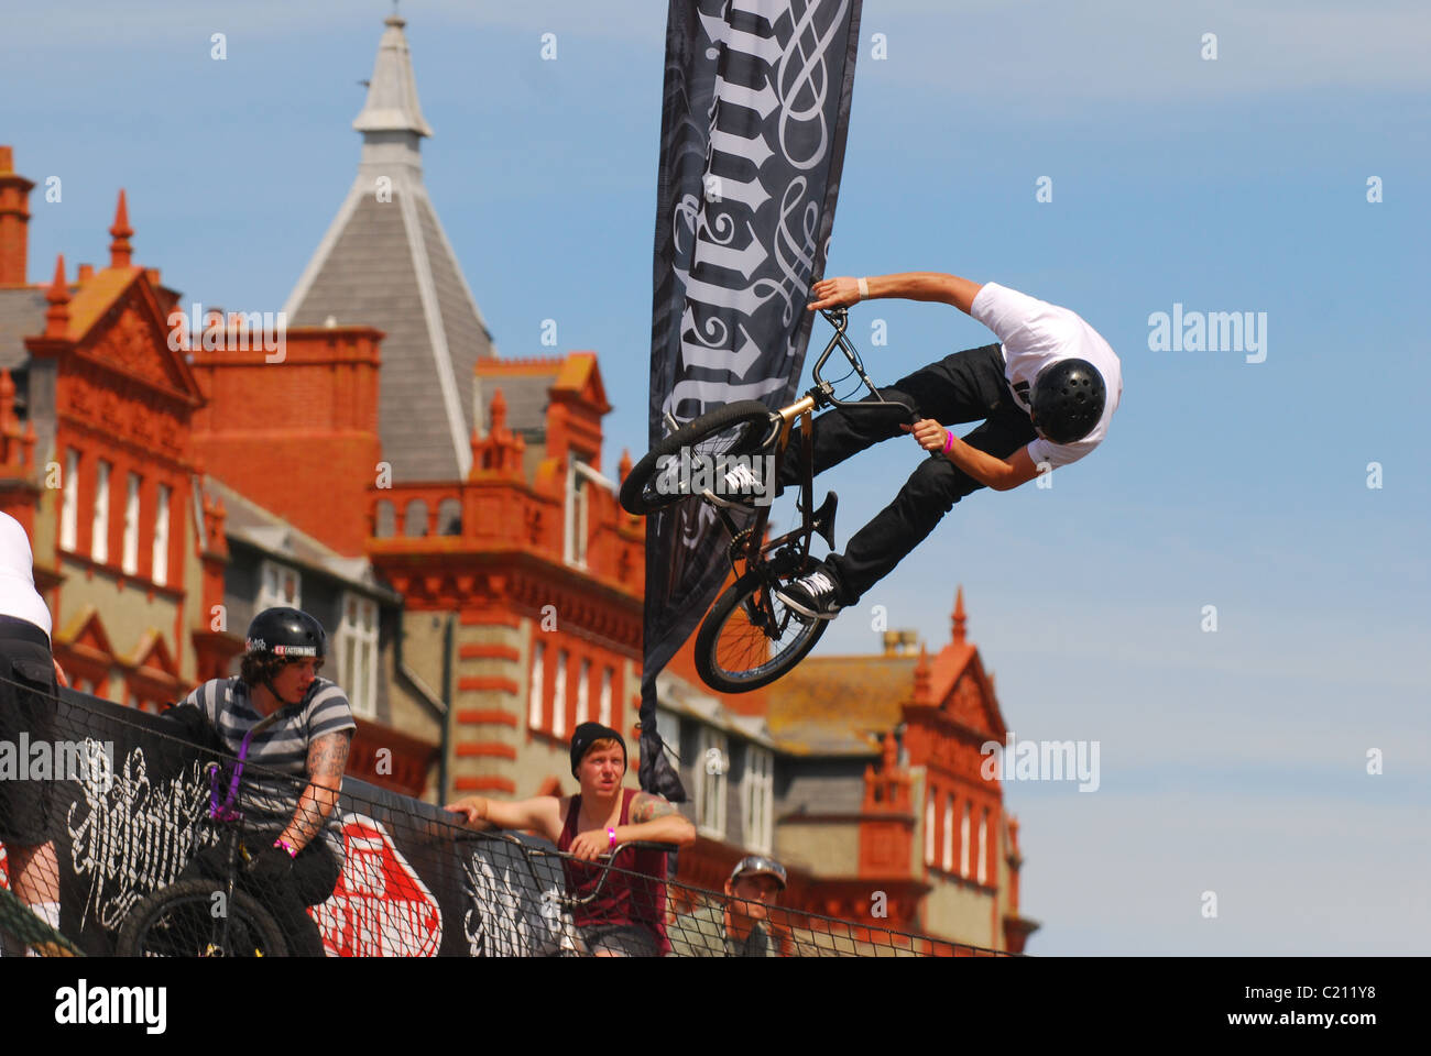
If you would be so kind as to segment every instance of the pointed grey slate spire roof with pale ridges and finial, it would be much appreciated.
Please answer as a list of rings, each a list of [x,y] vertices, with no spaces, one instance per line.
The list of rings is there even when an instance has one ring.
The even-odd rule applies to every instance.
[[[394,479],[465,478],[472,368],[492,339],[422,183],[418,106],[402,19],[378,47],[358,176],[283,311],[293,326],[384,331],[378,432]]]

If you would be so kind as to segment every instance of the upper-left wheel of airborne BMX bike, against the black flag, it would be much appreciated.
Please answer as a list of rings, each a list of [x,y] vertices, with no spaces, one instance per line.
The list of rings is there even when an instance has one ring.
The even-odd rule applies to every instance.
[[[687,495],[700,494],[680,479],[683,459],[720,472],[723,456],[761,451],[778,418],[758,399],[718,406],[665,436],[631,466],[621,482],[621,507],[628,514],[654,514]],[[687,474],[688,476],[690,474]],[[774,482],[767,482],[773,487]]]

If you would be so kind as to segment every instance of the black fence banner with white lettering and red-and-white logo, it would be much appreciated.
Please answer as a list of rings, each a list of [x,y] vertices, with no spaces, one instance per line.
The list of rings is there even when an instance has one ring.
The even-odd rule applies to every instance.
[[[60,690],[52,731],[70,760],[53,774],[49,820],[60,867],[60,932],[112,954],[136,904],[220,841],[206,764],[228,760],[149,715]],[[39,743],[39,740],[37,740]],[[56,751],[56,758],[59,758]],[[295,803],[296,803],[295,790]],[[239,806],[242,808],[242,794]],[[312,909],[333,956],[541,956],[558,952],[555,854],[517,834],[475,833],[452,814],[343,780],[335,808],[343,863]]]

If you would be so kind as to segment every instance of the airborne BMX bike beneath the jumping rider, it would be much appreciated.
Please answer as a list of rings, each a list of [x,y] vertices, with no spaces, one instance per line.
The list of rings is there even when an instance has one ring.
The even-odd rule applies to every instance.
[[[803,396],[776,411],[757,399],[743,399],[685,425],[678,425],[667,414],[670,432],[621,482],[621,505],[630,514],[653,514],[698,497],[714,507],[730,534],[727,558],[736,581],[711,605],[695,637],[695,670],[707,685],[721,693],[748,693],[768,685],[798,664],[824,634],[827,620],[797,612],[780,598],[784,584],[798,580],[814,565],[810,558],[814,535],[834,549],[839,497],[831,491],[819,509],[813,504],[813,412],[844,408],[861,415],[894,415],[909,422],[919,419],[917,408],[902,399],[886,399],[864,373],[860,355],[846,336],[847,311],[834,308],[820,313],[834,326],[834,335],[816,361],[811,372],[814,385]],[[869,389],[869,399],[840,399],[834,395],[834,385],[824,379],[823,369],[836,348]],[[767,538],[770,492],[776,488],[781,464],[791,454],[788,448],[796,421],[800,422],[801,441],[796,455],[800,461],[800,522],[783,535]],[[761,501],[753,502],[748,495],[733,494],[727,472],[738,472],[741,465],[748,469],[754,456],[766,459],[767,472]],[[714,474],[697,472],[693,478],[688,471],[691,464],[697,469],[714,466]],[[704,487],[705,479],[716,487]]]

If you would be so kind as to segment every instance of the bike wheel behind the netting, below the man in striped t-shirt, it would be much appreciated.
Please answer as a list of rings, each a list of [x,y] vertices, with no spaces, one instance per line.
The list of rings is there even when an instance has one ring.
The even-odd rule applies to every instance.
[[[114,943],[119,957],[203,957],[215,919],[210,907],[218,881],[189,877],[160,887],[139,901],[124,917]],[[288,940],[269,913],[252,894],[233,890],[229,900],[229,946],[243,953],[219,956],[286,957]]]

